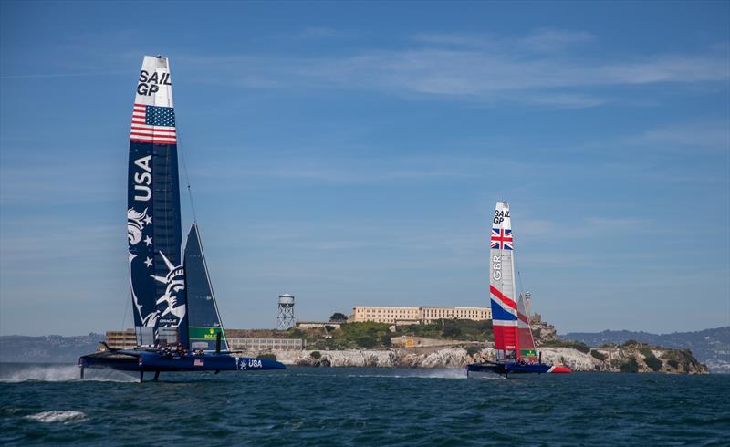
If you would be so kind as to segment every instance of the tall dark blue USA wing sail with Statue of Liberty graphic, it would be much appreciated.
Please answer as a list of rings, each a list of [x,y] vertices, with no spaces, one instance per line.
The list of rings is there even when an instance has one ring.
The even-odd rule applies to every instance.
[[[165,57],[145,56],[142,62],[131,118],[128,183],[127,235],[138,343],[162,340],[187,346],[177,136]]]

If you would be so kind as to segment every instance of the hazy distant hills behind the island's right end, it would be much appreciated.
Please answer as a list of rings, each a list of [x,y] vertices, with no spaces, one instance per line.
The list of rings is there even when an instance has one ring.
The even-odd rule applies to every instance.
[[[711,372],[730,373],[730,326],[671,334],[650,334],[631,330],[570,332],[558,337],[582,341],[594,347],[604,343],[621,344],[628,340],[636,340],[662,348],[689,349],[695,359],[707,365]]]

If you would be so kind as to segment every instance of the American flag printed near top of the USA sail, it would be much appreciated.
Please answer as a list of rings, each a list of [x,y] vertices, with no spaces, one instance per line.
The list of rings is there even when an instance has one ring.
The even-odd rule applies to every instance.
[[[157,144],[176,144],[175,109],[134,104],[130,140]]]

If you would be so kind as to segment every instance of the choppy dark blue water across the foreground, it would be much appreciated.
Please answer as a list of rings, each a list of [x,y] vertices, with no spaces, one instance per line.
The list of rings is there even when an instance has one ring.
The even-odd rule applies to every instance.
[[[730,376],[307,369],[78,380],[0,364],[0,444],[730,445]]]

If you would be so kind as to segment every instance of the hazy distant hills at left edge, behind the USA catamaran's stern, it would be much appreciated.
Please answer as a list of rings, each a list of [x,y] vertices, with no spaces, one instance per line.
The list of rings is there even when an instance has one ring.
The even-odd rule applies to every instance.
[[[78,357],[97,350],[101,334],[63,337],[2,336],[0,361],[23,363],[76,363]]]

